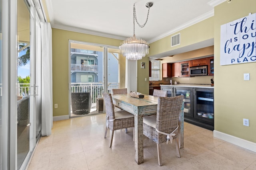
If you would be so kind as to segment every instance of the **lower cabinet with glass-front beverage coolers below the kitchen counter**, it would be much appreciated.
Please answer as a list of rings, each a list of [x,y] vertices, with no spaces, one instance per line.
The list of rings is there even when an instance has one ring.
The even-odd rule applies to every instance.
[[[161,86],[170,96],[184,96],[184,121],[214,130],[214,89]]]

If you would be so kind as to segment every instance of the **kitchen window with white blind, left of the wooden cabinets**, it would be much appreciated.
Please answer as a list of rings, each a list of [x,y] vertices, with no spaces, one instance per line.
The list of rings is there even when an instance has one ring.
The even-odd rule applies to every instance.
[[[161,81],[162,80],[162,61],[154,60],[151,62],[151,77],[149,81]]]

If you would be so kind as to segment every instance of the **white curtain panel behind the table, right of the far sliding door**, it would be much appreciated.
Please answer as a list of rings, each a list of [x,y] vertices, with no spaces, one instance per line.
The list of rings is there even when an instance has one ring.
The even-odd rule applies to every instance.
[[[125,87],[127,92],[137,92],[137,61],[126,59]]]

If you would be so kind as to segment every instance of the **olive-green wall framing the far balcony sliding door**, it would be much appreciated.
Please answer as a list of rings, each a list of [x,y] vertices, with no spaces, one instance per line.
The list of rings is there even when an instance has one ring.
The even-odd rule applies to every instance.
[[[99,37],[84,33],[65,31],[62,29],[52,29],[52,89],[53,104],[58,104],[58,108],[53,107],[53,116],[68,115],[68,40],[84,41],[104,45],[119,46],[121,40]],[[125,75],[125,58],[120,57],[120,74]],[[123,66],[124,65],[124,66]],[[121,82],[122,81],[122,82]],[[120,85],[124,87],[125,76],[120,78]]]

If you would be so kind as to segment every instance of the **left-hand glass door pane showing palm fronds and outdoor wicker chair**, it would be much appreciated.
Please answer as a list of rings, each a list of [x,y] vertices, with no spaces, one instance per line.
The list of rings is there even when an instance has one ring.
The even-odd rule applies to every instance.
[[[31,117],[34,112],[34,94],[31,93],[34,88],[34,41],[30,38],[30,33],[34,30],[30,28],[34,25],[34,9],[24,0],[17,2],[17,169],[20,169],[26,156],[31,152],[30,143],[33,141]]]

